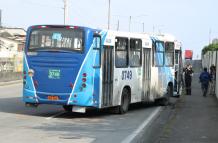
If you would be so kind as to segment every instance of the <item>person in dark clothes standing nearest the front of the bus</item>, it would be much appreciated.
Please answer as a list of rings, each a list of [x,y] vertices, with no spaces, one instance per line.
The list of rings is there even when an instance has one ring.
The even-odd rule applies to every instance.
[[[192,76],[193,70],[191,64],[188,64],[185,68],[185,88],[186,88],[186,95],[191,95],[191,83],[192,83]]]

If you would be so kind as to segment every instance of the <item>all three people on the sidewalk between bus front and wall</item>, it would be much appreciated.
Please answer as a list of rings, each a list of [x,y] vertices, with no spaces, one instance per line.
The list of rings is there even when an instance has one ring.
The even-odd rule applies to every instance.
[[[193,73],[194,71],[192,70],[191,64],[188,64],[184,69],[186,95],[191,95],[191,83],[192,83]],[[204,97],[206,97],[207,95],[209,85],[210,85],[210,94],[215,94],[215,79],[216,79],[216,67],[214,65],[210,67],[210,73],[207,71],[207,68],[203,69],[203,71],[199,76],[199,82],[201,83],[201,89]]]

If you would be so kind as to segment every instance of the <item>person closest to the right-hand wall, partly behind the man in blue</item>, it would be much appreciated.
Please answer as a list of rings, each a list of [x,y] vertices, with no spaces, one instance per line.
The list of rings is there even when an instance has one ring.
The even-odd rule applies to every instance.
[[[216,67],[214,64],[210,66],[210,76],[211,76],[211,82],[210,82],[210,94],[215,94],[215,83],[216,83]]]

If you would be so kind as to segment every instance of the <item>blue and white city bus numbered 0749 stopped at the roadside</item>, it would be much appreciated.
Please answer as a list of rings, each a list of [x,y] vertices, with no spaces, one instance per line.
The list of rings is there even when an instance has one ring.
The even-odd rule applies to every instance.
[[[181,52],[175,42],[167,35],[31,26],[24,51],[23,101],[82,113],[115,107],[122,114],[137,102],[167,105],[179,93],[175,65]]]

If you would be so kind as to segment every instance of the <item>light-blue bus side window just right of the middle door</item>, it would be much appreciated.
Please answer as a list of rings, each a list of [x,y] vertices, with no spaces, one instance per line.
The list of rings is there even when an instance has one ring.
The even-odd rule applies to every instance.
[[[155,50],[154,50],[154,65],[155,66],[163,66],[164,65],[164,42],[157,41],[155,42]]]

